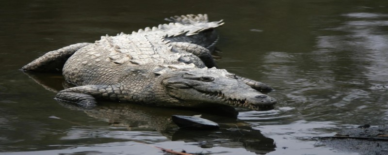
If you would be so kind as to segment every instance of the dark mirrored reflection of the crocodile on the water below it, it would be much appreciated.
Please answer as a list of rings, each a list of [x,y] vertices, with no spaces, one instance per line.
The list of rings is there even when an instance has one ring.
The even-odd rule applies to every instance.
[[[28,74],[35,82],[44,88],[57,92],[60,85],[67,85],[60,76],[47,74]],[[48,79],[48,77],[51,77]],[[55,80],[53,80],[55,79]],[[47,81],[53,81],[48,83]],[[63,82],[63,83],[61,83]],[[65,86],[66,87],[66,86]],[[74,104],[59,102],[62,106],[82,110],[88,116],[104,120],[111,126],[127,127],[131,131],[158,131],[173,141],[197,142],[202,148],[213,146],[245,148],[256,154],[266,154],[275,151],[273,139],[264,137],[259,130],[248,124],[236,122],[235,118],[202,113],[205,119],[211,119],[220,124],[219,130],[181,130],[171,120],[171,115],[196,115],[193,109],[171,109],[150,107],[138,104],[119,104],[102,102],[94,109],[81,109]],[[232,108],[233,109],[233,108]],[[227,110],[227,108],[226,108]],[[233,113],[232,111],[230,113]]]

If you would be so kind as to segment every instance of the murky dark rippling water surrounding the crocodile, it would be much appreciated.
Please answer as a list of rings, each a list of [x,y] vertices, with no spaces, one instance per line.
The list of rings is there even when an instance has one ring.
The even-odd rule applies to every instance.
[[[0,154],[162,155],[152,147],[158,146],[222,155],[349,155],[357,153],[309,137],[388,123],[386,0],[2,0],[0,10]],[[223,129],[182,133],[170,116],[198,112],[105,102],[101,109],[122,111],[68,109],[53,100],[63,89],[60,74],[30,75],[45,88],[18,70],[50,50],[198,13],[225,20],[219,67],[275,88],[274,110],[239,109],[238,120],[205,114]]]

